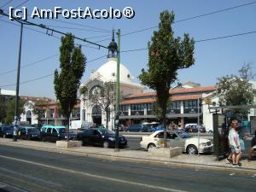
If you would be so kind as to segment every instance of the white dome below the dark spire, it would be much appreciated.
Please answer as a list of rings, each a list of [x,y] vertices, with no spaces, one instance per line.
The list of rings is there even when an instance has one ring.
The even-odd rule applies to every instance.
[[[100,75],[100,79],[103,81],[116,81],[116,67],[116,58],[109,58],[108,61],[102,65],[102,67],[98,68],[96,73]],[[120,82],[125,84],[132,83],[130,71],[122,64],[120,64],[119,67],[119,79]]]

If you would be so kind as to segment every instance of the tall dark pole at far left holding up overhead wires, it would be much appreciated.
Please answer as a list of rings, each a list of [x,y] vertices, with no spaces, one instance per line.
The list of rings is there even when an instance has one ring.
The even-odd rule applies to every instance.
[[[14,120],[14,142],[17,141],[17,130],[19,122],[19,90],[20,90],[20,60],[21,60],[21,47],[22,47],[22,32],[23,23],[20,22],[20,46],[19,46],[19,58],[17,68],[17,79],[16,79],[16,96],[15,96],[15,120]]]

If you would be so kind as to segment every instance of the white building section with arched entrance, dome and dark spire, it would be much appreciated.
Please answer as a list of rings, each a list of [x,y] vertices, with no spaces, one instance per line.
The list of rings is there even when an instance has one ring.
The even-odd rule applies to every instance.
[[[88,121],[95,123],[96,125],[109,125],[113,129],[114,123],[114,100],[111,100],[108,105],[108,111],[104,109],[106,107],[109,98],[102,96],[97,102],[93,102],[90,99],[90,94],[99,92],[103,89],[104,83],[110,83],[115,86],[116,74],[117,74],[117,44],[112,38],[112,42],[108,46],[107,62],[99,67],[95,72],[90,73],[90,78],[81,87],[86,86],[87,92],[80,96],[80,120],[81,122]],[[125,65],[119,65],[119,90],[120,97],[142,93],[144,86],[133,82],[133,77]],[[106,91],[106,90],[105,90]],[[109,96],[115,96],[115,90],[109,93]]]

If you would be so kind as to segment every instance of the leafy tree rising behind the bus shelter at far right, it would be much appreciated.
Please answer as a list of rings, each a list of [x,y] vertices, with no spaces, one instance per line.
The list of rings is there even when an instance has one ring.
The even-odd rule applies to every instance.
[[[251,64],[244,64],[239,70],[239,76],[231,74],[218,79],[216,84],[219,94],[220,106],[241,106],[253,103],[253,87],[249,83],[253,79]],[[228,109],[233,115],[239,117],[247,115],[246,109]]]

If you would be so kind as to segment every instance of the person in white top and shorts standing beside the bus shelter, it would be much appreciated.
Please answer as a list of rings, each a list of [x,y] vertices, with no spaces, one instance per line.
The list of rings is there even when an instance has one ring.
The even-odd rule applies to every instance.
[[[238,126],[237,120],[232,120],[231,129],[229,132],[229,143],[232,155],[232,167],[240,167],[239,160],[241,158],[241,148],[239,143],[239,135],[236,131],[236,127]]]

